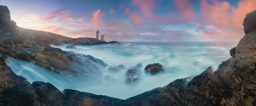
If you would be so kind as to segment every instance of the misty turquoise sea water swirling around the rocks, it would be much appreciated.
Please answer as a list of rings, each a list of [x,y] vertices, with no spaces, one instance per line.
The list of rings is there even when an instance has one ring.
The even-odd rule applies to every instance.
[[[119,99],[141,94],[151,89],[162,87],[175,79],[194,76],[202,73],[207,67],[214,70],[218,65],[231,56],[229,50],[236,47],[238,42],[121,42],[121,44],[105,44],[91,46],[75,46],[68,49],[67,45],[54,46],[65,51],[74,51],[91,55],[101,59],[110,66],[123,64],[125,68],[110,72],[108,67],[102,69],[102,76],[98,79],[66,79],[63,76],[51,73],[33,63],[23,62],[11,57],[6,60],[13,71],[26,77],[29,82],[50,82],[61,91],[74,89],[112,96]],[[141,63],[141,80],[136,84],[125,83],[125,72],[129,67]],[[156,75],[145,73],[146,65],[160,63],[164,72]]]

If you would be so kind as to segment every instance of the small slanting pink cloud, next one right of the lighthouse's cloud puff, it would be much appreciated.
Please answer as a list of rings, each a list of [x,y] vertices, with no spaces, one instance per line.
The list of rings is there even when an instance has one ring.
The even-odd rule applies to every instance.
[[[125,14],[128,15],[131,20],[133,20],[133,24],[145,25],[145,21],[142,19],[141,16],[138,15],[137,12],[131,12],[129,8],[126,8]]]

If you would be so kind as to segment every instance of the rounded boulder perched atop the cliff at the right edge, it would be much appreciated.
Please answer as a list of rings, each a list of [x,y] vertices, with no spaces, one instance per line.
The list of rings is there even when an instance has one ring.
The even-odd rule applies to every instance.
[[[243,20],[243,31],[245,34],[248,34],[256,30],[256,10],[246,14],[246,17]]]

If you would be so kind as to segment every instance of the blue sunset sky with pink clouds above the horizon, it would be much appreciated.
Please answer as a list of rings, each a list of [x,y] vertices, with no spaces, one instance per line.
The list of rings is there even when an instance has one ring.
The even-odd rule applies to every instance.
[[[131,42],[230,42],[256,0],[0,0],[19,27]]]

